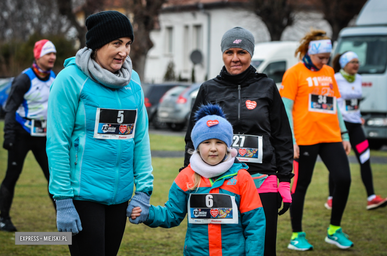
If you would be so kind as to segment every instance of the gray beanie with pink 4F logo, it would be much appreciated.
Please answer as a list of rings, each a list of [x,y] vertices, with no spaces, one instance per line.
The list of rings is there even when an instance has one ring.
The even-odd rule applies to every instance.
[[[248,51],[253,57],[254,42],[254,36],[249,30],[235,27],[224,33],[220,46],[222,53],[230,48],[241,48]]]

